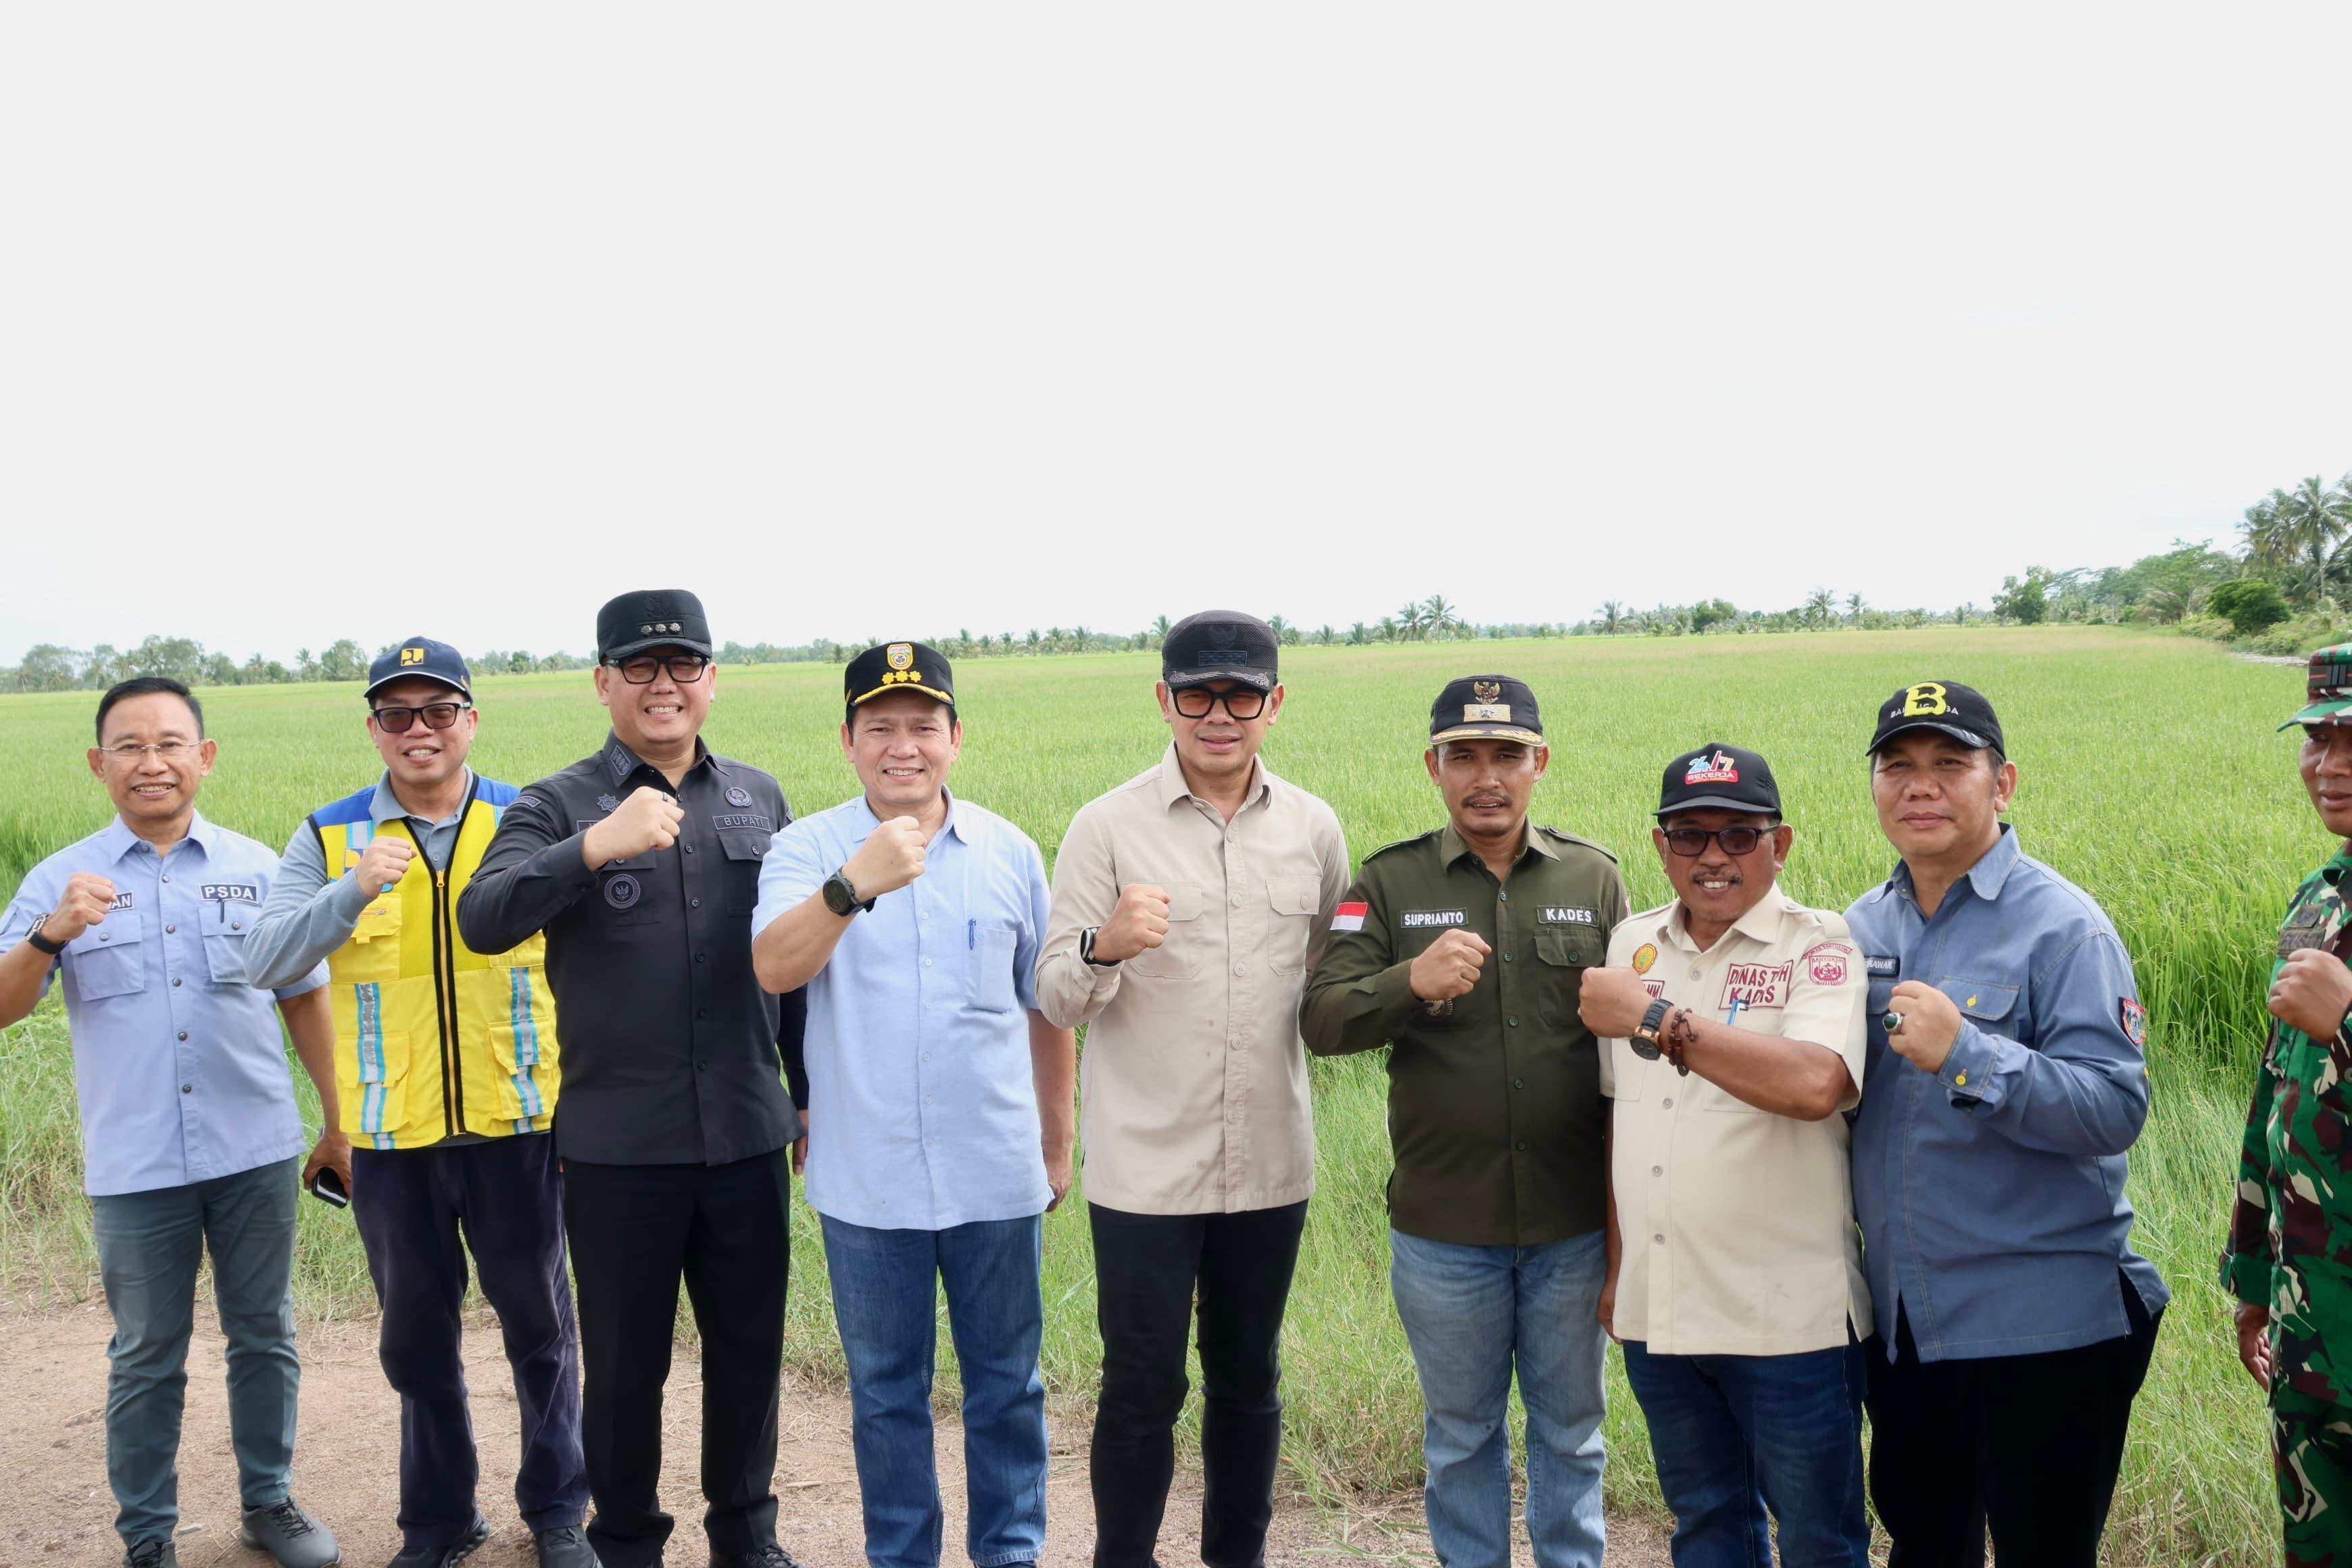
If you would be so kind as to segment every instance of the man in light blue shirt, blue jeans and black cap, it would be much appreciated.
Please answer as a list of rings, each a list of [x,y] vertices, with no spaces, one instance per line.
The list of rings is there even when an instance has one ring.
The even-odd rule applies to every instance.
[[[936,1568],[934,1276],[964,1378],[974,1568],[1044,1549],[1040,1215],[1070,1187],[1077,1046],[1037,1011],[1049,889],[1011,823],[948,795],[964,729],[948,661],[849,661],[842,750],[866,785],[776,835],[753,964],[809,987],[809,1206],[873,1568]]]

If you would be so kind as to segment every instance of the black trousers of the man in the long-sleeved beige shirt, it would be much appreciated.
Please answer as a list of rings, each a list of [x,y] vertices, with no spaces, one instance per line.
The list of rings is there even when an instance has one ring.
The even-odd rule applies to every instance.
[[[1282,1307],[1308,1206],[1249,1213],[1124,1213],[1094,1227],[1103,1394],[1094,1408],[1096,1568],[1150,1568],[1176,1479],[1176,1418],[1190,1392],[1183,1342],[1200,1295],[1200,1556],[1258,1568],[1282,1458]]]

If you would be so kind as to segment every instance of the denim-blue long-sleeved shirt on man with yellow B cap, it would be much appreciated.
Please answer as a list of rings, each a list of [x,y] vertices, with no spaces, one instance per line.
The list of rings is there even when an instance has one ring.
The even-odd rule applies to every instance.
[[[1898,865],[1846,924],[1870,971],[1853,1213],[1886,1354],[1898,1305],[1922,1361],[2124,1335],[2117,1272],[2164,1307],[2164,1279],[2131,1251],[2124,1150],[2147,1121],[2147,1027],[2107,914],[2004,825],[1933,917]],[[1898,980],[1959,1006],[1933,1074],[1886,1046]]]

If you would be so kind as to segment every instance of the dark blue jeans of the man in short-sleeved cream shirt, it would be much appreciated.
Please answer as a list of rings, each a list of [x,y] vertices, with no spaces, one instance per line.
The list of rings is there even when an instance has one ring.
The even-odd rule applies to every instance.
[[[1863,1514],[1863,1347],[1790,1356],[1653,1356],[1625,1340],[1675,1568],[1870,1568]]]

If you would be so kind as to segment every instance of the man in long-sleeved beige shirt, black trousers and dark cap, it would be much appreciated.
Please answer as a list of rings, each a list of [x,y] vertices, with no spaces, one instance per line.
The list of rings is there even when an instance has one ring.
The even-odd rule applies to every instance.
[[[1282,1309],[1315,1190],[1298,992],[1348,886],[1348,842],[1331,806],[1258,762],[1282,712],[1272,628],[1185,616],[1160,668],[1171,745],[1070,820],[1037,959],[1047,1020],[1089,1025],[1094,1563],[1155,1561],[1197,1295],[1202,1561],[1258,1568],[1282,1453]]]

